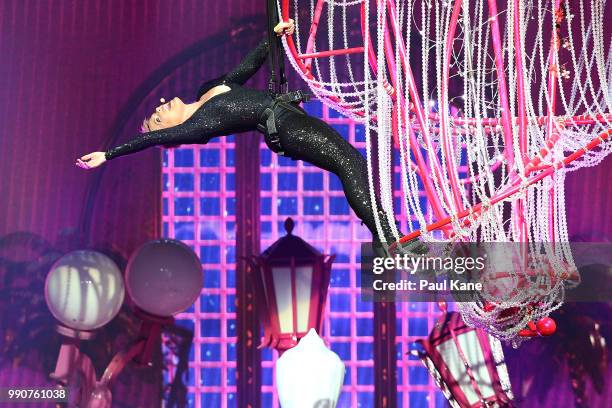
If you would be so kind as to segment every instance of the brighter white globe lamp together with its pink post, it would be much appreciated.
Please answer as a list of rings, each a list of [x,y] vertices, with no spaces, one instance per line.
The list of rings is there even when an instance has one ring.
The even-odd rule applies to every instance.
[[[117,265],[95,251],[73,251],[58,259],[45,281],[45,299],[59,320],[62,345],[50,377],[70,391],[69,407],[110,407],[108,390],[96,388],[90,358],[79,350],[81,340],[113,319],[124,299],[123,277]],[[86,403],[95,394],[96,405]]]

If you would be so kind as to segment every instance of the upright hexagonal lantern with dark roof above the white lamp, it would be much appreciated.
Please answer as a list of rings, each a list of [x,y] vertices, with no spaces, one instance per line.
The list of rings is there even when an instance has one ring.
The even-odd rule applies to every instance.
[[[321,332],[334,259],[293,235],[293,227],[293,220],[287,218],[287,235],[254,257],[254,284],[264,325],[260,347],[273,347],[281,354],[308,330]]]

